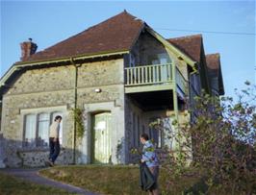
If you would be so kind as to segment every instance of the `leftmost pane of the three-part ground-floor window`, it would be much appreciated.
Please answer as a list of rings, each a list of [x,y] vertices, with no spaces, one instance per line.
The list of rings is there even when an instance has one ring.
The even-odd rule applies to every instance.
[[[36,146],[36,114],[26,115],[25,122],[25,146]]]

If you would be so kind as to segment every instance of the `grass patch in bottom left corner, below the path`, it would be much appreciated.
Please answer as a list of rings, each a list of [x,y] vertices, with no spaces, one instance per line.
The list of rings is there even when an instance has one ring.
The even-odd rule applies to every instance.
[[[0,173],[0,194],[1,195],[30,195],[30,194],[72,194],[64,190],[39,185],[35,183],[25,182],[22,179],[14,178],[13,176]]]

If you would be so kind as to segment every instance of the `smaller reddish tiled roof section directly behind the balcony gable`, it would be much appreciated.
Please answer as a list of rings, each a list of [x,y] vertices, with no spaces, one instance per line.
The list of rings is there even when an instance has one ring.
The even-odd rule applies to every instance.
[[[192,58],[193,61],[201,61],[202,36],[193,35],[167,39],[170,43]]]

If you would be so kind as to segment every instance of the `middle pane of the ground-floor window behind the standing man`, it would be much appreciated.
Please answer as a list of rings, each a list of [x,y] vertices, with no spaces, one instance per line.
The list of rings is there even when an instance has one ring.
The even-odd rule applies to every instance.
[[[38,146],[48,146],[49,143],[49,122],[48,113],[40,113],[38,116]]]

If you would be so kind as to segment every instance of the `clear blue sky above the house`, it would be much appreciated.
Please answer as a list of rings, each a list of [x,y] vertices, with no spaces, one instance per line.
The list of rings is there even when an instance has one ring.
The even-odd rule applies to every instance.
[[[28,37],[40,51],[124,9],[166,38],[202,34],[205,53],[220,53],[226,95],[245,81],[255,84],[254,1],[1,1],[0,76],[19,61],[19,43]]]

